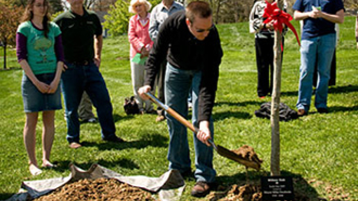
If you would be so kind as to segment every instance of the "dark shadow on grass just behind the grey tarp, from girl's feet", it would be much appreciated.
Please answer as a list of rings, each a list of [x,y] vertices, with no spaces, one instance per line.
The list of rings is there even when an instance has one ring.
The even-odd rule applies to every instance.
[[[89,161],[89,162],[85,162],[85,163],[78,163],[78,162],[74,162],[74,161],[69,161],[69,160],[65,160],[65,161],[56,161],[56,165],[57,167],[54,168],[54,171],[57,172],[65,172],[67,170],[69,170],[69,165],[71,163],[73,163],[74,165],[76,165],[77,167],[81,168],[82,170],[88,170],[89,167],[91,167],[92,164],[96,163],[98,165],[101,165],[103,167],[106,168],[113,168],[113,167],[122,167],[122,168],[126,168],[126,169],[130,169],[130,170],[134,170],[134,169],[139,169],[139,166],[134,163],[131,160],[128,160],[126,158],[122,158],[118,161],[107,161],[107,160],[98,160],[98,161]]]

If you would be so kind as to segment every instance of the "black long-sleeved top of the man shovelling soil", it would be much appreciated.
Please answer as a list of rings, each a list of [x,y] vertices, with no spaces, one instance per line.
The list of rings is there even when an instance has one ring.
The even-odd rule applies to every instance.
[[[158,37],[147,60],[144,85],[153,88],[155,75],[165,58],[175,68],[201,70],[198,120],[209,120],[223,56],[220,38],[214,27],[204,40],[196,39],[189,31],[185,19],[185,11],[178,11],[160,25]]]

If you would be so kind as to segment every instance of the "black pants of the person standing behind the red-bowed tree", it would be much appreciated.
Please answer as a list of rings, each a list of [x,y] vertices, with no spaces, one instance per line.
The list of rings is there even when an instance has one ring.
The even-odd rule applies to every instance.
[[[266,96],[267,94],[272,93],[272,83],[274,80],[274,42],[274,37],[255,38],[257,64],[257,95],[259,97]],[[282,38],[282,47],[283,45],[284,40]],[[282,57],[283,52],[281,54],[281,61]]]

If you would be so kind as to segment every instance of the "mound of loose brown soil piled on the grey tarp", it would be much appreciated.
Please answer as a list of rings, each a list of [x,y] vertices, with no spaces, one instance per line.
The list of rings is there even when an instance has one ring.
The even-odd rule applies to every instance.
[[[35,201],[155,201],[151,194],[112,178],[83,179],[68,183]]]

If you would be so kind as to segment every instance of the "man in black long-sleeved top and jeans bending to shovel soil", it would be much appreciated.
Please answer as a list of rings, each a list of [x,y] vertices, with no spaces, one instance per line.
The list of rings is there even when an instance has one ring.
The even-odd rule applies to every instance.
[[[207,195],[216,177],[213,147],[207,139],[213,138],[211,114],[222,56],[209,4],[192,1],[185,11],[170,15],[160,26],[147,60],[145,84],[139,89],[142,98],[147,98],[145,92],[153,88],[160,63],[166,58],[165,103],[186,117],[188,92],[193,83],[192,121],[200,130],[194,135],[197,183],[191,194],[196,197]],[[170,134],[169,169],[179,170],[185,177],[191,172],[187,129],[170,115],[166,114],[166,118]]]

